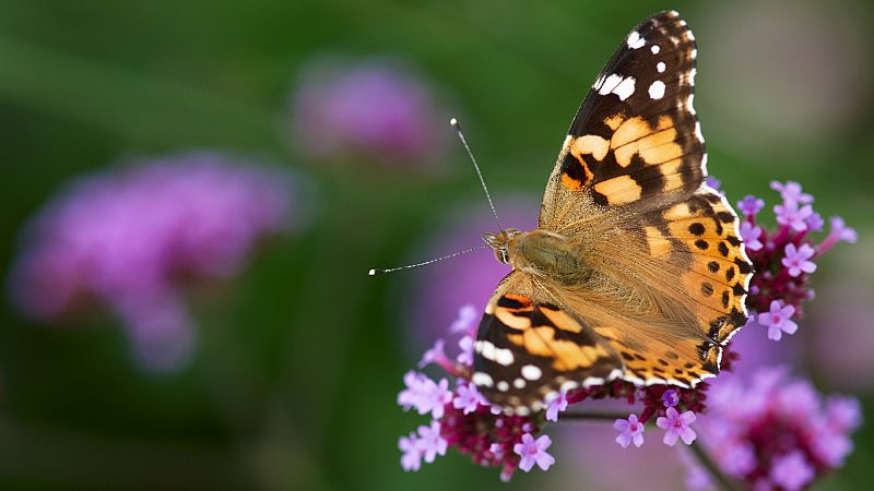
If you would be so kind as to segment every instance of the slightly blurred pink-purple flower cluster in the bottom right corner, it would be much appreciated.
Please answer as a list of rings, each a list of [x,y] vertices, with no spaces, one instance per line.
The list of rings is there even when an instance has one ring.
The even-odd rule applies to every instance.
[[[788,373],[766,368],[748,384],[737,379],[714,384],[709,412],[698,423],[722,471],[752,489],[798,491],[841,466],[853,447],[850,433],[862,420],[855,398],[824,397]]]

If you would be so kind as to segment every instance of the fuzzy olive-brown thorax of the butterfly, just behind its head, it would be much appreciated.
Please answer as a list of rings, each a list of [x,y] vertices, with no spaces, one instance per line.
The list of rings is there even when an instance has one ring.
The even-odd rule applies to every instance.
[[[564,285],[580,285],[591,276],[578,243],[547,230],[519,233],[508,244],[513,268]]]

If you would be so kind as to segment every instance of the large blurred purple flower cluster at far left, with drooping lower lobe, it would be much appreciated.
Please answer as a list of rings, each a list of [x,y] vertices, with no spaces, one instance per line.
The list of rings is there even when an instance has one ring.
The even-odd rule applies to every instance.
[[[9,279],[20,309],[52,322],[98,300],[143,367],[181,366],[194,333],[180,279],[232,276],[258,239],[292,225],[290,176],[233,160],[191,153],[74,182],[25,229]]]

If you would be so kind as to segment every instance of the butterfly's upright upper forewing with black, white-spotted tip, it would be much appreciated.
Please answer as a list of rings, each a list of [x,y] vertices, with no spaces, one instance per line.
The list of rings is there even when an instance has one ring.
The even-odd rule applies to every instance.
[[[676,12],[663,12],[619,45],[574,118],[547,183],[541,228],[698,189],[706,153],[692,105],[694,39]]]

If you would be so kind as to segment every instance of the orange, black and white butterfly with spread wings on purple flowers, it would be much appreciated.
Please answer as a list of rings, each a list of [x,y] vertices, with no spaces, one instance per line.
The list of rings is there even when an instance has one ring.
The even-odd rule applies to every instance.
[[[483,236],[512,266],[474,344],[471,380],[492,404],[525,415],[575,387],[719,372],[753,265],[705,180],[696,55],[677,12],[638,24],[570,124],[538,228]]]

